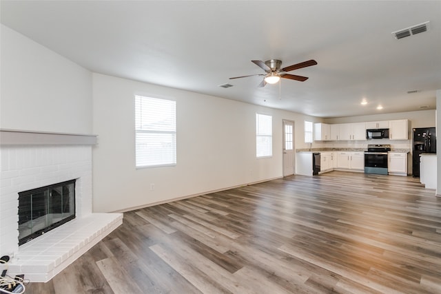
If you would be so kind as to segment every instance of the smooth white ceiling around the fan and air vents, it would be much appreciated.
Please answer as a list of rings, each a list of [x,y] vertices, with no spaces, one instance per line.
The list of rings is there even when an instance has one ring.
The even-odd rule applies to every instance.
[[[92,72],[324,118],[435,109],[441,89],[441,1],[2,0],[1,23]],[[318,65],[229,80],[268,59]]]

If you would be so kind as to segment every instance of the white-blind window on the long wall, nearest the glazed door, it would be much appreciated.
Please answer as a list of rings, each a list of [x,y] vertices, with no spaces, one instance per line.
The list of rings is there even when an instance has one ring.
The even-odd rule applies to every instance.
[[[273,117],[256,114],[256,157],[273,155]]]

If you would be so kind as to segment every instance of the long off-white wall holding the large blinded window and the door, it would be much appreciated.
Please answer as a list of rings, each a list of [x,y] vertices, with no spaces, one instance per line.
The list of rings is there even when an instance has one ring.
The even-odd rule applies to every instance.
[[[177,165],[135,169],[134,95],[176,100]],[[282,176],[282,120],[314,118],[147,83],[93,74],[94,211],[122,211]],[[273,116],[272,158],[256,159],[256,112]],[[317,119],[315,119],[317,120]],[[150,184],[155,189],[150,191]]]

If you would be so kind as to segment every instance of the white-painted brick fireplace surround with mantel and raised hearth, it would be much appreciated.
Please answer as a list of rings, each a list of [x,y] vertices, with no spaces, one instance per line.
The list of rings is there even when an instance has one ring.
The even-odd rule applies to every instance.
[[[0,255],[8,274],[47,282],[122,223],[121,213],[92,213],[96,136],[0,131]],[[19,246],[19,192],[76,180],[76,218]]]

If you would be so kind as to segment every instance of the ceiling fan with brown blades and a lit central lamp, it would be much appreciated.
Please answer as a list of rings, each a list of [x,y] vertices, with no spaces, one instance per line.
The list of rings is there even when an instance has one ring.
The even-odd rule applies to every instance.
[[[280,68],[282,66],[282,61],[278,59],[270,59],[265,62],[260,60],[252,60],[252,63],[256,64],[261,69],[265,70],[266,74],[249,74],[248,76],[264,76],[263,81],[259,84],[259,87],[265,87],[268,84],[274,84],[280,81],[280,78],[289,78],[290,80],[296,80],[300,82],[306,81],[308,78],[306,76],[296,76],[295,74],[287,74],[291,70],[298,70],[302,67],[308,67],[311,65],[316,65],[317,61],[311,59],[309,61],[303,61],[301,63],[296,63],[294,65],[289,65],[287,67]],[[247,76],[235,76],[234,78],[246,78]],[[234,78],[229,78],[230,80]]]

